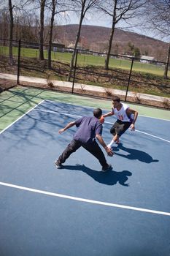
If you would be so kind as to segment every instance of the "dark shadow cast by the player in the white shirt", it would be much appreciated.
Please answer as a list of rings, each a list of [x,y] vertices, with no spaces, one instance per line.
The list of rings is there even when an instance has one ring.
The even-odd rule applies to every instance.
[[[112,149],[115,152],[115,154],[117,154],[120,157],[125,157],[127,159],[131,159],[131,160],[137,159],[141,162],[146,162],[147,164],[150,164],[151,162],[159,162],[158,159],[152,159],[150,154],[147,154],[144,151],[134,149],[134,148],[125,148],[122,143],[120,143],[117,147],[113,147]],[[124,155],[124,154],[117,153],[116,151],[119,151],[120,149],[129,154]]]

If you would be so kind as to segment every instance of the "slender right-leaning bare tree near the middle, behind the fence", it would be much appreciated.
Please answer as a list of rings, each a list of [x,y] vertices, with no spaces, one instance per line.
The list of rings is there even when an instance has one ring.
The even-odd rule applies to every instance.
[[[99,2],[98,0],[72,0],[72,7],[80,15],[80,21],[79,21],[77,37],[76,37],[76,41],[75,41],[75,45],[74,45],[74,50],[73,50],[73,54],[72,54],[72,59],[70,62],[70,70],[69,70],[69,75],[67,78],[68,81],[70,81],[71,75],[72,75],[72,69],[74,66],[74,59],[76,56],[77,45],[80,40],[82,21],[85,18],[85,14],[88,12],[88,10],[92,10],[94,7],[96,7],[96,4],[98,4],[98,2]]]

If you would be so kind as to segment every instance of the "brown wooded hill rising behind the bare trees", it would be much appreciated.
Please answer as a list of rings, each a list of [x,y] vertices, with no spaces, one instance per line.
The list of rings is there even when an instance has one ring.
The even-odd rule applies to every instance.
[[[55,26],[54,40],[69,47],[75,42],[77,29],[78,25]],[[80,44],[83,48],[104,53],[104,50],[107,50],[109,34],[110,29],[107,27],[82,25]],[[141,55],[155,57],[158,61],[166,61],[168,43],[121,29],[115,30],[112,53],[131,54],[129,42],[139,48]]]

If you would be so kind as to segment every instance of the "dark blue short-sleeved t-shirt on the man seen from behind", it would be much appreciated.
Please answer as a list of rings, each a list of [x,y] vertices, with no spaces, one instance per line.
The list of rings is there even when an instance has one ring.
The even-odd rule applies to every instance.
[[[75,122],[78,129],[73,136],[74,140],[79,140],[82,143],[92,143],[96,135],[102,134],[102,124],[95,116],[83,116]]]

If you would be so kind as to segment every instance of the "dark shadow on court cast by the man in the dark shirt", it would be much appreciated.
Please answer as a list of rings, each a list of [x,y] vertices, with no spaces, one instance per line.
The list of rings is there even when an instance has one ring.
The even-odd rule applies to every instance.
[[[115,170],[102,172],[90,169],[85,165],[64,165],[64,169],[81,170],[83,173],[87,173],[95,181],[98,181],[102,184],[107,184],[109,186],[115,185],[118,182],[120,185],[128,187],[129,184],[125,182],[128,181],[128,176],[132,175],[132,173],[128,170],[123,170],[122,172],[116,172]]]

